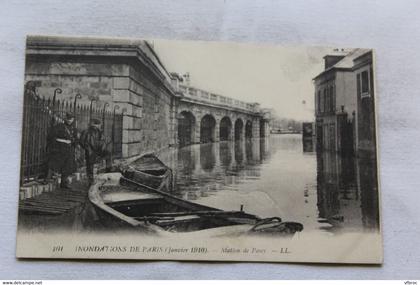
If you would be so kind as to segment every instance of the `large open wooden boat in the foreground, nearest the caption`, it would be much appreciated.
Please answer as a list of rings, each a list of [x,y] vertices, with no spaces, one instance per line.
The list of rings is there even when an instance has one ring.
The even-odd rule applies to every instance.
[[[162,191],[164,185],[155,189],[120,173],[99,174],[89,189],[89,199],[107,225],[118,224],[161,235],[205,230],[210,236],[290,235],[303,230],[301,224],[282,222],[280,218],[261,219],[242,210],[223,211],[186,201]]]

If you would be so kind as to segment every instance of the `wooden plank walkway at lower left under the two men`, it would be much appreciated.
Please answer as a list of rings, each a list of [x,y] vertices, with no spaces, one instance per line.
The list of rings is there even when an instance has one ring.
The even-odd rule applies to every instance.
[[[97,163],[94,175],[104,170],[105,164]],[[18,229],[41,232],[100,229],[102,225],[89,203],[89,184],[84,167],[69,180],[71,189],[61,189],[58,177],[50,183],[33,180],[22,185]]]

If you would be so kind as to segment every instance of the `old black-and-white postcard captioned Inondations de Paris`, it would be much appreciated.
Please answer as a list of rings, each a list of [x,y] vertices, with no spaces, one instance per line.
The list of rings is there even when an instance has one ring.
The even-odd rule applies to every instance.
[[[382,263],[374,63],[29,36],[17,257]]]

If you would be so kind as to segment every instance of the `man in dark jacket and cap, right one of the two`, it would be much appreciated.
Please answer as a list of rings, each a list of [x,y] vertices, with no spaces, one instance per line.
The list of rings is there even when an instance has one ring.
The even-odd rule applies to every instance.
[[[106,168],[111,167],[111,155],[107,150],[108,144],[105,141],[100,120],[91,120],[89,128],[80,135],[80,145],[85,150],[86,174],[89,184],[92,184],[94,181],[93,167],[99,159],[105,159]]]

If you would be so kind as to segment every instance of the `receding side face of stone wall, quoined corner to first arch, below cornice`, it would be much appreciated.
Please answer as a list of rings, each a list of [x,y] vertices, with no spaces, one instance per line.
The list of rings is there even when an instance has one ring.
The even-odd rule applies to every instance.
[[[172,95],[139,67],[130,66],[120,82],[114,102],[127,107],[123,153],[128,157],[161,150],[174,144]]]

